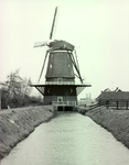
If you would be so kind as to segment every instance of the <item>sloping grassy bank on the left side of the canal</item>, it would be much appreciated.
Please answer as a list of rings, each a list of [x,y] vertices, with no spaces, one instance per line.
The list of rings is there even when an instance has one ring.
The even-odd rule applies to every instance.
[[[52,107],[26,107],[0,111],[0,160],[39,124],[51,120]]]

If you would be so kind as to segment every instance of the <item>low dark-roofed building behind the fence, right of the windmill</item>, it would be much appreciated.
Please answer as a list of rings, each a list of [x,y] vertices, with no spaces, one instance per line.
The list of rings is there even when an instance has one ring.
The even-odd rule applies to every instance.
[[[129,108],[129,91],[116,89],[114,91],[106,89],[96,99],[100,105],[106,105],[107,108],[128,109]]]

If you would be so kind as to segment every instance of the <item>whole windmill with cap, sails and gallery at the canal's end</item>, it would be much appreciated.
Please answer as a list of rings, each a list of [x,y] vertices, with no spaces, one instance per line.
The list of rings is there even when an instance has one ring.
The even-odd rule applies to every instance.
[[[57,7],[55,8],[50,41],[35,43],[34,45],[34,47],[49,46],[39,77],[40,82],[46,58],[49,57],[45,84],[31,86],[35,87],[44,96],[44,105],[53,105],[60,110],[75,107],[77,105],[77,95],[85,87],[90,87],[90,85],[83,84],[74,45],[63,40],[53,40],[56,14]],[[75,84],[75,77],[80,80],[79,85]]]

